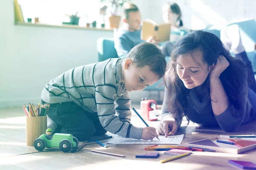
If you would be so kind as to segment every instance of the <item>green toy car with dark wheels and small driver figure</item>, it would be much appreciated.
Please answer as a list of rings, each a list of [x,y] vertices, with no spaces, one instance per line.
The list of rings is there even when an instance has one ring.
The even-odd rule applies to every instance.
[[[46,132],[52,132],[47,129]],[[49,133],[47,133],[49,134]],[[45,147],[59,147],[61,151],[68,152],[78,146],[78,139],[71,134],[55,133],[53,135],[43,134],[35,139],[34,147],[36,150],[42,151]]]

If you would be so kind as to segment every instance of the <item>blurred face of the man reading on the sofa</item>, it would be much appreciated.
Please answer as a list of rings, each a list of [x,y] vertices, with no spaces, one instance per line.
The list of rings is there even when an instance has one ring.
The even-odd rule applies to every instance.
[[[130,30],[132,31],[140,30],[140,23],[141,23],[140,11],[129,12],[128,20],[125,19],[125,22],[128,24]]]

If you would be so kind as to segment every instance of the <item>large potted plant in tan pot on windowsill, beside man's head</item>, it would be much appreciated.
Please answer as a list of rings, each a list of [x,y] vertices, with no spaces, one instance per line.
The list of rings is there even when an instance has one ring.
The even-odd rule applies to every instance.
[[[107,3],[107,8],[101,8],[100,14],[105,16],[105,25],[109,28],[118,28],[121,17],[118,14],[118,9],[122,8],[122,5],[129,0],[101,0],[101,3]],[[108,14],[106,14],[108,11]]]

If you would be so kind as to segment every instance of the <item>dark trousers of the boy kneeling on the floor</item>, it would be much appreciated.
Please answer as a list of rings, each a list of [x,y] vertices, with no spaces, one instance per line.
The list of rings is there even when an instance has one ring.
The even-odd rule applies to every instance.
[[[42,104],[44,103],[42,100]],[[75,102],[50,104],[47,115],[57,124],[54,133],[72,134],[79,141],[107,132],[99,122],[98,113],[87,112]]]

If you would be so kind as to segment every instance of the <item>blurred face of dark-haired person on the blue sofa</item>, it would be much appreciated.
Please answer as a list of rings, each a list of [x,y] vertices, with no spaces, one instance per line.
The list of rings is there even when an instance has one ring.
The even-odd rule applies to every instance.
[[[179,15],[172,13],[169,4],[163,6],[162,17],[165,23],[175,25]]]

